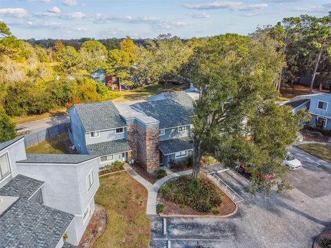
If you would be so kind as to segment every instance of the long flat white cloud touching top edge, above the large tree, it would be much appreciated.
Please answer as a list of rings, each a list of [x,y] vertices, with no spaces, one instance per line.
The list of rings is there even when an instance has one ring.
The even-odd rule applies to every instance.
[[[238,1],[213,1],[207,3],[187,3],[184,5],[185,8],[194,10],[217,10],[217,9],[229,9],[232,11],[250,11],[250,10],[261,10],[267,8],[267,3],[259,4],[244,4]]]

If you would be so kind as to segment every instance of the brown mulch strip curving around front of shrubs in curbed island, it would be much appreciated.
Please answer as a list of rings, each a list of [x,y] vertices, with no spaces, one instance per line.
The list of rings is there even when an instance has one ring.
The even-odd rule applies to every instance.
[[[207,177],[205,177],[207,178]],[[207,178],[208,180],[210,180],[209,178]],[[212,182],[212,180],[210,180],[210,183],[214,183]],[[219,188],[218,188],[219,189]],[[236,209],[236,205],[235,203],[226,195],[224,194],[224,192],[219,189],[219,191],[222,192],[223,197],[222,197],[222,203],[221,206],[214,208],[217,209],[221,212],[220,216],[225,216],[228,214],[233,213],[233,211]],[[168,200],[165,200],[165,198],[163,198],[163,196],[161,196],[161,194],[157,195],[157,203],[158,204],[163,204],[165,205],[165,209],[163,211],[163,214],[185,214],[185,215],[214,215],[217,216],[215,214],[212,213],[212,211],[208,212],[208,213],[201,213],[197,210],[192,209],[191,207],[185,206],[183,207],[180,204],[177,203],[172,203]]]

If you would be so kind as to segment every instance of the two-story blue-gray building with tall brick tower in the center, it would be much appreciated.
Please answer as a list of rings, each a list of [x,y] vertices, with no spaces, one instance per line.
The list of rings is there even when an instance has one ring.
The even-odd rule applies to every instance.
[[[131,106],[112,101],[73,105],[70,140],[79,153],[101,156],[101,166],[133,160],[154,170],[178,163],[192,156],[193,101],[189,93],[167,92]]]

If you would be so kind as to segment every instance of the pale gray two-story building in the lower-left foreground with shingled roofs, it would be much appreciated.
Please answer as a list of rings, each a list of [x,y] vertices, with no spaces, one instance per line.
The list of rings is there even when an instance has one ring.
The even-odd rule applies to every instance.
[[[23,137],[0,143],[0,247],[78,245],[98,172],[99,156],[26,154]]]

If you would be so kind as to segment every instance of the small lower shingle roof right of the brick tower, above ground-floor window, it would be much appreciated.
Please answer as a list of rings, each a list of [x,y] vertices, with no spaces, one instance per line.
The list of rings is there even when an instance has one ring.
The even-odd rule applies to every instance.
[[[159,147],[163,155],[167,155],[193,149],[193,143],[188,138],[173,138],[168,141],[160,141]]]

